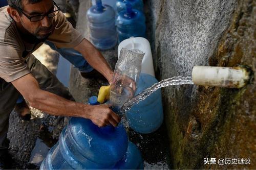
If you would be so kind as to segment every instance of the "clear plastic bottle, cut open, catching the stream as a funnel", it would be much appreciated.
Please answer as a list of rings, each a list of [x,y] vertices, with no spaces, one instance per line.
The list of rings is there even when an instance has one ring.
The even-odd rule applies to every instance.
[[[124,102],[134,96],[143,56],[144,53],[140,50],[122,48],[110,85],[110,103],[113,111],[118,112]]]

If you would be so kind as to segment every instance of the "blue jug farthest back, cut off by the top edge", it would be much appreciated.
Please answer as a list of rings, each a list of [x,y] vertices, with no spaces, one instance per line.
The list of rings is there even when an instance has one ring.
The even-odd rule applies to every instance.
[[[125,5],[129,3],[132,5],[133,9],[137,9],[143,12],[143,1],[142,0],[117,0],[116,1],[116,10],[117,13],[125,10]]]

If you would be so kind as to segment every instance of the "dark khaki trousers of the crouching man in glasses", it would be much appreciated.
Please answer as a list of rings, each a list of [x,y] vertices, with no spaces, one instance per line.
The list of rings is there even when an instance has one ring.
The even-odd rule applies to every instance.
[[[28,57],[27,63],[32,75],[36,78],[41,89],[62,96],[65,99],[74,101],[68,88],[61,84],[56,76],[54,76],[33,55]],[[5,80],[0,78],[0,156],[1,152],[5,152],[9,147],[9,142],[6,138],[8,132],[9,115],[16,104],[18,96],[19,92],[12,85],[12,83],[7,83]]]

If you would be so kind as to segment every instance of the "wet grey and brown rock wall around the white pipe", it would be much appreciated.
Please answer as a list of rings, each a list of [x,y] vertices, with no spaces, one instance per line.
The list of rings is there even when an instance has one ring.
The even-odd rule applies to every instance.
[[[144,2],[159,80],[191,75],[194,65],[245,65],[255,72],[255,1]],[[173,168],[256,168],[254,79],[242,89],[162,89]],[[204,164],[204,158],[249,158],[250,164]]]

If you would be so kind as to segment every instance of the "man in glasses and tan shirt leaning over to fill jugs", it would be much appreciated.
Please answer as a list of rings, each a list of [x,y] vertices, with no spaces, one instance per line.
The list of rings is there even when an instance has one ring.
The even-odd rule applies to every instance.
[[[99,127],[117,126],[109,105],[73,102],[68,89],[33,55],[44,41],[74,48],[109,82],[113,71],[98,50],[66,20],[53,0],[9,0],[0,9],[0,161],[5,158],[9,115],[19,93],[29,104],[53,115],[89,118]]]

